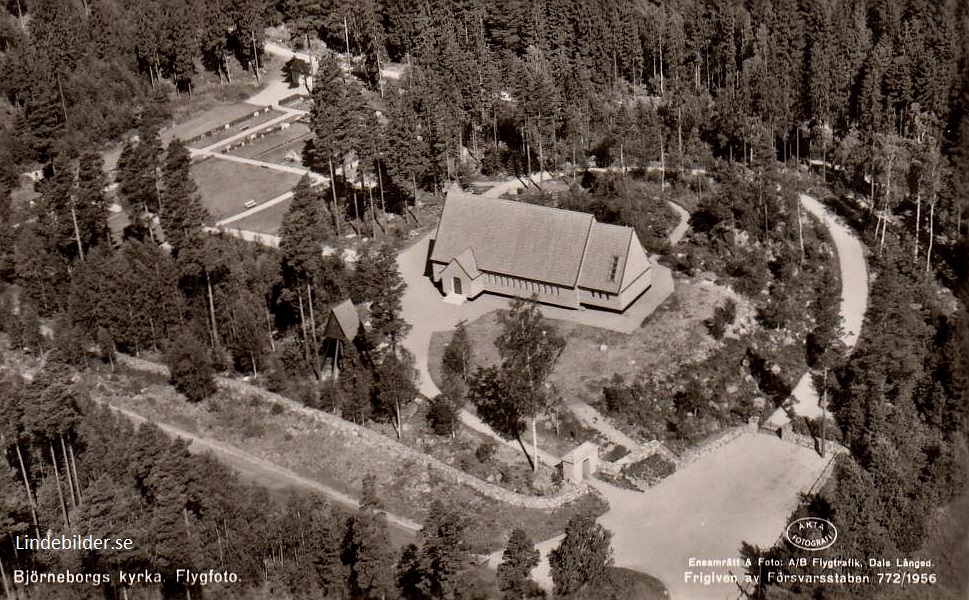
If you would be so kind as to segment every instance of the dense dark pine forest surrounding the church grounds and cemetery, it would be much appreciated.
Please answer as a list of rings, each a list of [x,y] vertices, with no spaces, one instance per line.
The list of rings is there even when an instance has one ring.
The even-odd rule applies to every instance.
[[[729,221],[768,248],[761,215],[779,218],[790,198],[769,207],[753,198],[790,170],[812,171],[812,185],[832,191],[870,244],[875,278],[861,341],[830,364],[828,392],[850,456],[799,510],[837,519],[843,548],[858,556],[924,550],[939,515],[965,493],[969,467],[967,7],[959,0],[4,2],[0,332],[12,352],[49,360],[33,380],[4,372],[0,385],[4,586],[12,568],[168,573],[184,560],[238,572],[254,598],[463,597],[470,567],[460,515],[438,506],[420,544],[396,553],[372,493],[356,515],[316,498],[270,499],[159,430],[135,430],[95,407],[83,376],[72,377],[92,350],[112,366],[117,352],[149,353],[164,357],[176,389],[192,401],[214,391],[215,372],[253,375],[344,418],[386,421],[400,436],[415,377],[413,358],[399,346],[408,325],[393,250],[375,245],[354,267],[319,251],[348,222],[377,220],[377,199],[334,177],[355,158],[361,181],[365,172],[381,182],[380,211],[405,218],[407,205],[450,182],[616,167],[622,178],[607,182],[611,191],[594,190],[587,205],[576,196],[569,208],[642,227],[644,241],[647,233],[662,236],[624,195],[627,168],[658,166],[661,185],[688,185],[678,181],[706,169],[720,191],[700,202],[694,229]],[[283,25],[294,46],[322,40],[348,51],[353,76],[343,58],[321,54],[304,162],[337,181],[297,184],[275,249],[206,231],[212,219],[189,152],[178,140],[166,147],[159,131],[176,100],[193,101],[202,73],[226,86],[240,70],[259,78],[266,28]],[[396,82],[379,76],[389,63],[404,67]],[[109,174],[101,152],[112,144],[121,155]],[[33,170],[43,172],[37,197],[15,202],[21,173]],[[131,220],[119,243],[107,226],[112,177]],[[385,179],[395,192],[386,204]],[[741,293],[764,287],[758,278],[767,269],[758,265],[766,259],[738,265]],[[783,288],[776,290],[782,300]],[[322,384],[325,315],[346,298],[369,306],[372,327],[341,350],[339,381]],[[823,320],[823,308],[815,310]],[[836,327],[825,328],[818,353],[834,337]],[[444,434],[452,410],[440,411]],[[206,476],[193,475],[200,472]],[[78,527],[148,541],[131,553],[29,559],[8,543]],[[530,560],[530,540],[518,535],[511,546],[519,558],[508,559],[501,585],[531,593],[516,574]],[[932,597],[958,597],[967,585],[957,581]],[[814,589],[760,591],[819,597]],[[202,597],[178,585],[156,592]],[[118,586],[104,594],[128,597]],[[204,594],[240,597],[237,589]]]

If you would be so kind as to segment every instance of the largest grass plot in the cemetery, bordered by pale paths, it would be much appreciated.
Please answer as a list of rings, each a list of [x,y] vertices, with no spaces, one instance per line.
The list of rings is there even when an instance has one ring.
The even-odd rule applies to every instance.
[[[285,194],[300,178],[295,173],[219,158],[193,163],[192,177],[202,194],[202,203],[216,220],[245,210],[250,200],[265,202]]]

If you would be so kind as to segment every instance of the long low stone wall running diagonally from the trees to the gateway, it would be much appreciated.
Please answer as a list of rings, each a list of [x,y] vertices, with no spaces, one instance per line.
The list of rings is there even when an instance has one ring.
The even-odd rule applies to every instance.
[[[164,375],[166,377],[168,376],[167,367],[151,361],[119,354],[118,362],[136,371]],[[466,485],[484,496],[488,496],[489,498],[493,498],[500,502],[505,502],[506,504],[510,504],[512,506],[518,506],[521,508],[554,509],[568,504],[569,502],[578,500],[584,495],[594,491],[586,484],[579,484],[569,486],[559,493],[551,496],[527,496],[525,494],[519,494],[486,481],[482,481],[477,477],[456,469],[451,465],[445,464],[432,456],[424,454],[423,452],[403,444],[399,444],[396,441],[377,433],[376,431],[367,429],[366,427],[357,425],[356,423],[351,423],[350,421],[345,421],[336,415],[309,408],[300,404],[299,402],[296,402],[295,400],[291,400],[285,396],[280,396],[279,394],[274,394],[273,392],[250,385],[244,381],[227,379],[225,377],[218,377],[217,381],[219,387],[222,389],[241,395],[256,396],[266,402],[283,406],[288,410],[312,419],[329,429],[335,430],[338,433],[351,435],[357,438],[361,444],[365,444],[371,449],[383,453],[393,454],[401,461],[410,460],[420,463],[425,468],[433,470],[435,473],[452,483]]]

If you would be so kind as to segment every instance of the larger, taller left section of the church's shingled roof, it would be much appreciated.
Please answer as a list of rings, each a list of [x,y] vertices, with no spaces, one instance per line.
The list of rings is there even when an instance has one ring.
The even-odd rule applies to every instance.
[[[447,263],[471,248],[482,271],[573,287],[594,221],[585,213],[451,192],[431,260]]]

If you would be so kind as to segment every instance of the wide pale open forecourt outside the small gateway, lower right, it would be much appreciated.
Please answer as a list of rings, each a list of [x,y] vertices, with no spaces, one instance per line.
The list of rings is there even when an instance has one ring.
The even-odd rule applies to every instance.
[[[703,583],[703,575],[743,580],[739,567],[691,567],[690,559],[739,558],[742,542],[770,546],[784,531],[806,492],[821,475],[828,458],[803,446],[761,433],[741,435],[697,459],[645,492],[595,482],[609,502],[599,518],[613,533],[617,567],[658,578],[675,600],[736,600],[733,583]],[[537,544],[542,563],[532,577],[551,589],[548,552],[561,536]],[[489,557],[497,566],[501,553]],[[699,577],[694,582],[692,576]]]

